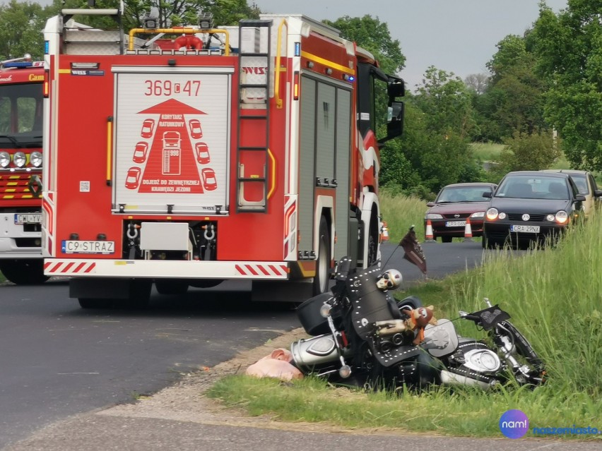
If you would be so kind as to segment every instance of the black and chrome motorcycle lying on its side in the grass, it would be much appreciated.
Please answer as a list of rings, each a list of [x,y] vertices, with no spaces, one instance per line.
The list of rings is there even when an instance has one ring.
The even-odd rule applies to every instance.
[[[461,337],[454,321],[432,318],[432,306],[409,296],[395,301],[401,273],[377,265],[355,270],[349,258],[336,267],[331,293],[314,296],[297,309],[312,338],[293,342],[293,363],[303,373],[367,388],[477,385],[507,381],[541,385],[544,366],[529,341],[499,306],[461,311],[488,333],[487,340]]]

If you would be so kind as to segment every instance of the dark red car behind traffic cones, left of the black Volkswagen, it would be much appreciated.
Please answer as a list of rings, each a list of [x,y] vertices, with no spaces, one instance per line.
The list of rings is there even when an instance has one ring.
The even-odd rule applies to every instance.
[[[485,182],[444,186],[435,202],[427,203],[430,208],[425,214],[425,231],[427,220],[430,220],[433,238],[440,237],[442,242],[451,243],[454,236],[464,236],[469,217],[472,235],[482,236],[483,218],[490,201],[490,196],[484,197],[483,193],[492,193],[495,188],[496,184]]]

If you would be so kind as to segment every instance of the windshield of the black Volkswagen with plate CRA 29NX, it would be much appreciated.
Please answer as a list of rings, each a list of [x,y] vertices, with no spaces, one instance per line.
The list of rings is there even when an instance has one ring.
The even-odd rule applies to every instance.
[[[547,176],[508,176],[495,193],[497,198],[569,199],[565,179]]]

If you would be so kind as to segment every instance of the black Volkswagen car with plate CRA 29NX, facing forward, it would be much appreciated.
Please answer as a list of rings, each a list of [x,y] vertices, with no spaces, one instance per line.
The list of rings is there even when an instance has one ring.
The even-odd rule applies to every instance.
[[[524,247],[556,238],[582,216],[584,200],[568,174],[509,172],[485,212],[483,247]]]

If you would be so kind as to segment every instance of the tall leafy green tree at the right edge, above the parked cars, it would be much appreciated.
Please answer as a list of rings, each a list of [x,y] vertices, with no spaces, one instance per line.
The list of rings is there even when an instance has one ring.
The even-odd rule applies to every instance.
[[[544,114],[562,137],[572,167],[602,170],[602,2],[568,0],[557,15],[545,7],[529,44],[547,80]]]

